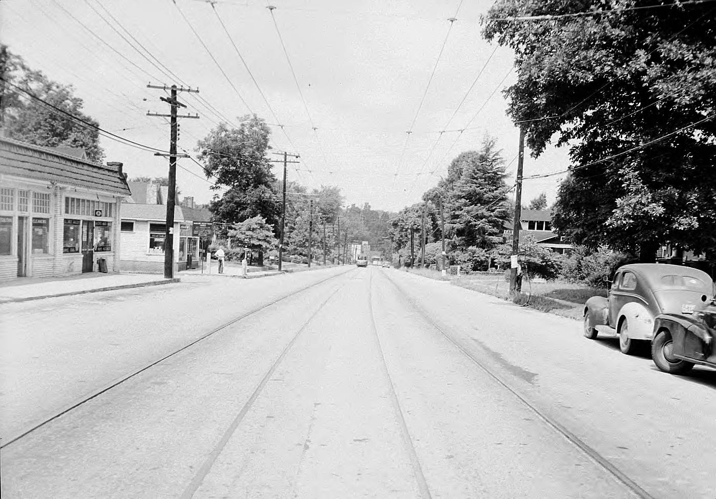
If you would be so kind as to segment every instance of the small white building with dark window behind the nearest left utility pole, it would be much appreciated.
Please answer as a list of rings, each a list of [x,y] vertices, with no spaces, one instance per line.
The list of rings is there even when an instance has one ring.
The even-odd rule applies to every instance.
[[[166,205],[125,203],[122,205],[122,268],[125,271],[161,273],[164,269]],[[198,237],[180,206],[174,208],[174,268],[183,271],[190,260],[198,261]]]

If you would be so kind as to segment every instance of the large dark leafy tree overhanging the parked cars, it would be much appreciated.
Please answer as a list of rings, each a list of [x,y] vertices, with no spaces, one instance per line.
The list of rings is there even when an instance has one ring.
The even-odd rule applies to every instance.
[[[553,225],[574,243],[638,250],[642,261],[662,243],[716,246],[716,16],[679,2],[600,13],[652,4],[498,0],[483,19],[485,37],[516,52],[508,113],[549,117],[523,125],[533,155],[551,140],[571,145]],[[594,14],[499,20],[579,11]]]

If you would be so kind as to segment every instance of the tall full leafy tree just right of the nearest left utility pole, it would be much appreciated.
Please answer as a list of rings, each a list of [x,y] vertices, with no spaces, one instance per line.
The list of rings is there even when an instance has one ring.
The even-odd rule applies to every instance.
[[[198,142],[207,178],[215,178],[211,188],[228,188],[209,205],[216,220],[236,223],[260,215],[272,226],[279,220],[276,177],[266,158],[270,135],[266,122],[253,115],[242,117],[236,129],[220,123]]]

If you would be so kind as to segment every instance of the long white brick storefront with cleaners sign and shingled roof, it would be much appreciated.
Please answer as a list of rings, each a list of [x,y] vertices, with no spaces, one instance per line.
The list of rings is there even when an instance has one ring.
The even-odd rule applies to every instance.
[[[122,163],[0,137],[0,281],[120,270]]]

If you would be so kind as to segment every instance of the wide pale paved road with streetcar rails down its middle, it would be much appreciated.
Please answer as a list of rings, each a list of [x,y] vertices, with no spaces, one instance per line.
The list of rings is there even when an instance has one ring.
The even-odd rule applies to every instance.
[[[716,373],[571,319],[375,267],[98,295],[1,311],[4,442],[79,403],[4,498],[716,498]]]

